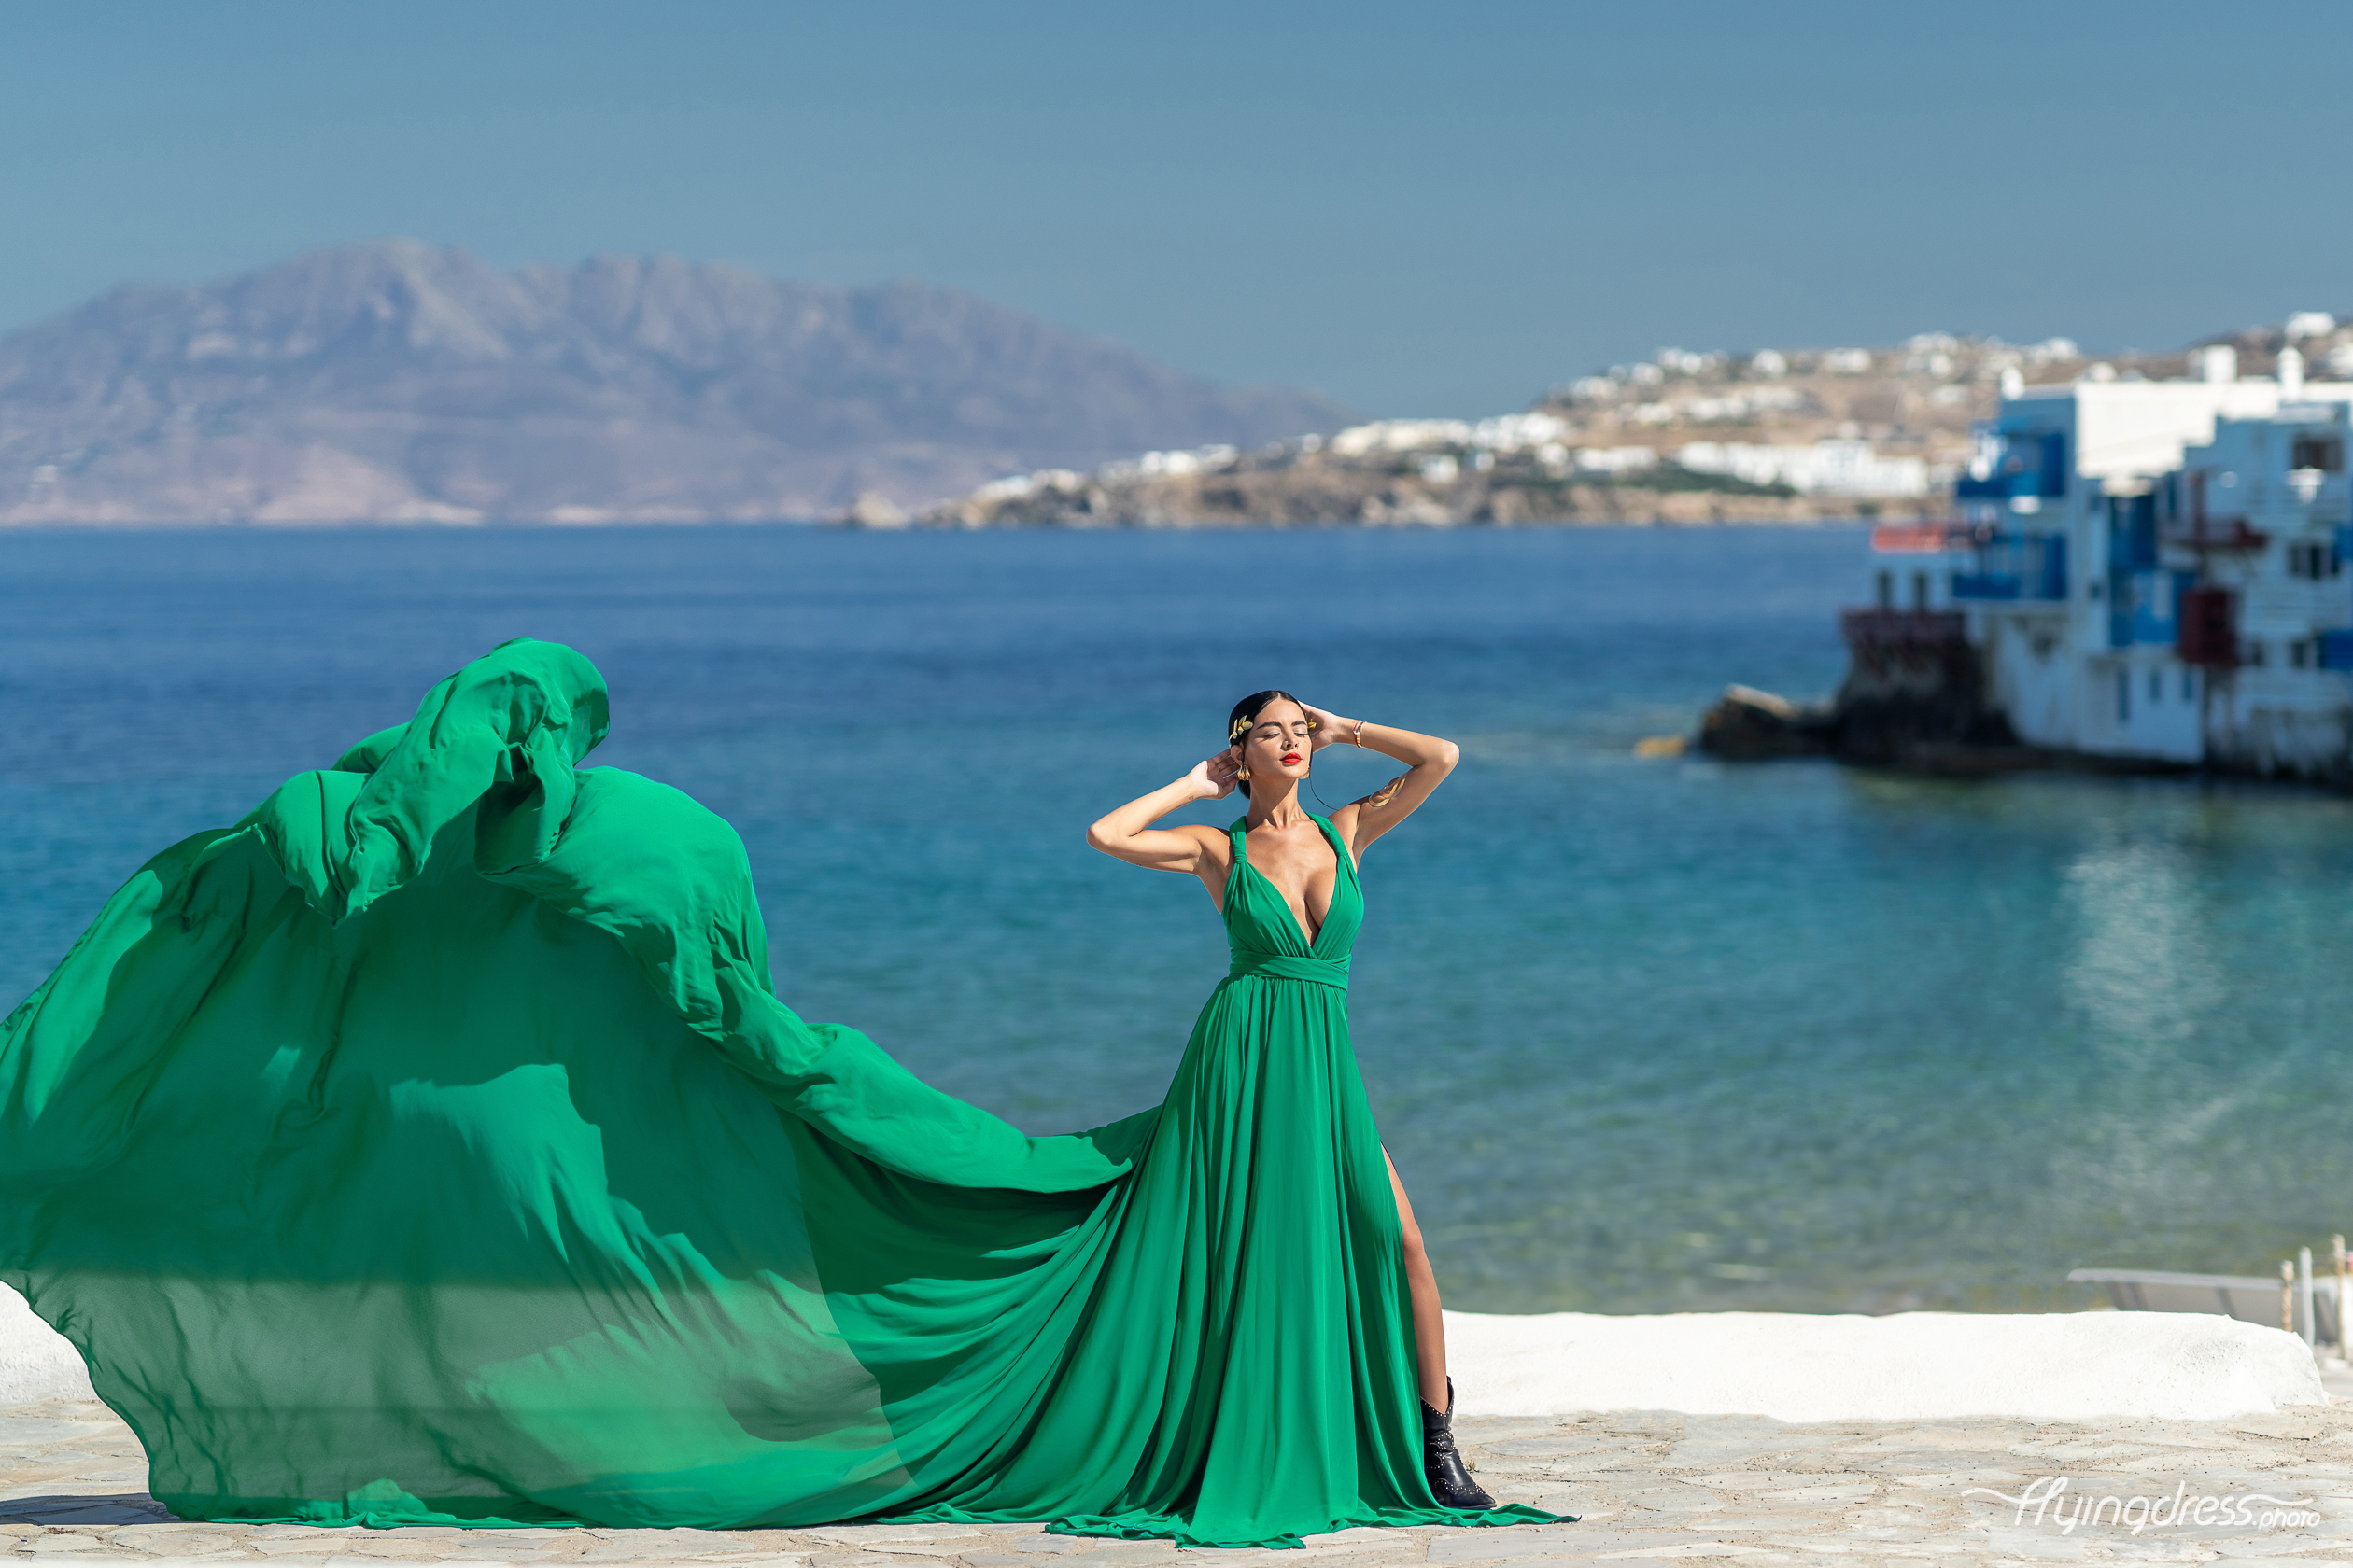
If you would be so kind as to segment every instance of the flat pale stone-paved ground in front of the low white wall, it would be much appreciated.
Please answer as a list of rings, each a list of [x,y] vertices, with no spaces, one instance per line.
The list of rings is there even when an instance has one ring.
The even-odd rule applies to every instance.
[[[0,1552],[108,1561],[779,1563],[784,1568],[1054,1568],[1148,1563],[1824,1563],[2151,1561],[2261,1568],[2353,1563],[2353,1408],[2221,1422],[1814,1422],[1753,1415],[1464,1420],[1480,1479],[1508,1502],[1581,1514],[1508,1530],[1339,1530],[1306,1552],[1176,1552],[1042,1535],[1035,1526],[821,1530],[318,1530],[181,1523],[146,1495],[132,1434],[96,1403],[0,1410]],[[2035,1523],[2026,1495],[2066,1488]],[[1972,1495],[1972,1488],[1984,1488]],[[2047,1488],[2047,1483],[2045,1483]],[[2002,1497],[1993,1495],[2000,1493]],[[2273,1519],[2299,1502],[2308,1521]],[[2129,1500],[2144,1500],[2134,1512]],[[2207,1523],[2146,1523],[2146,1500],[2214,1497]],[[2061,1528],[2089,1500],[2099,1523]],[[2101,1502],[2113,1500],[2113,1502]],[[2228,1502],[2224,1502],[2228,1500]],[[2299,1509],[2301,1512],[2301,1509]],[[2127,1514],[2125,1523],[2115,1516]],[[2141,1523],[2139,1530],[2132,1523]]]

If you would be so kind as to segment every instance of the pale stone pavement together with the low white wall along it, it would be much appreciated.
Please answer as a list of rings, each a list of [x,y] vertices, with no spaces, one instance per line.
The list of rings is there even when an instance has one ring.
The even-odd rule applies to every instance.
[[[285,1568],[386,1559],[1534,1568],[1685,1556],[1739,1559],[1739,1568],[2221,1559],[2353,1568],[2353,1403],[2332,1403],[2311,1352],[2275,1328],[2146,1312],[1722,1312],[1447,1314],[1447,1335],[1464,1401],[1457,1429],[1480,1479],[1506,1502],[1579,1523],[1339,1530],[1282,1554],[1179,1552],[1038,1526],[320,1530],[165,1514],[146,1495],[146,1455],[92,1399],[73,1347],[0,1288],[0,1554]],[[2339,1399],[2353,1394],[2353,1373],[2329,1378]],[[2045,1502],[2021,1507],[2021,1497]]]

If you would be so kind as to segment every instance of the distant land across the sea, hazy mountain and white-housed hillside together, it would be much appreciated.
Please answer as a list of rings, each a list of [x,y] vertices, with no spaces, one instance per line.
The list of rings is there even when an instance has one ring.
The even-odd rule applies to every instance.
[[[2315,367],[2348,374],[2353,329],[2313,320]],[[2252,374],[2278,350],[2214,341]],[[1941,331],[1661,348],[1511,414],[1365,421],[911,282],[386,240],[0,336],[0,529],[1911,522],[1951,515],[2005,388],[2181,364]]]

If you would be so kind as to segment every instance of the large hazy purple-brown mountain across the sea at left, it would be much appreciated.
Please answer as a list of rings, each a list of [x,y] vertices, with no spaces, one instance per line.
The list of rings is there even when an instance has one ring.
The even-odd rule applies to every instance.
[[[0,336],[0,522],[814,517],[1348,418],[951,289],[386,240]]]

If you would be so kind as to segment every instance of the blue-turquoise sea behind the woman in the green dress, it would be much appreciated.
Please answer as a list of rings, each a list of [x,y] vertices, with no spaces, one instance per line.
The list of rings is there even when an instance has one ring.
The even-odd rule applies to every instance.
[[[1082,830],[1278,684],[1464,748],[1367,856],[1351,997],[1449,1305],[2035,1307],[2353,1229],[2353,802],[1631,757],[1727,679],[1831,689],[1861,550],[0,534],[0,1004],[146,853],[534,635],[612,679],[595,762],[744,830],[788,1001],[1031,1131],[1106,1121],[1226,959],[1195,882]]]

